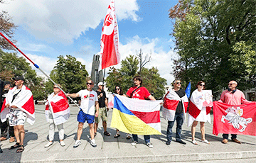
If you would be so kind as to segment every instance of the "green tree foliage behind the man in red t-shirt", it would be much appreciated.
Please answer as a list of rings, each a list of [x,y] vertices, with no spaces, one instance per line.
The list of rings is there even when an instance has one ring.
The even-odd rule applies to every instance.
[[[114,86],[122,86],[124,94],[128,89],[134,86],[133,77],[139,74],[138,67],[139,60],[137,57],[129,55],[125,60],[122,60],[120,69],[110,68],[109,76],[106,79],[107,88],[109,91],[114,91]],[[166,79],[161,78],[158,69],[152,67],[151,69],[142,68],[141,74],[143,79],[143,86],[149,92],[159,99],[164,96],[164,85]]]

